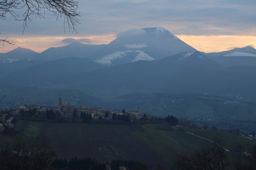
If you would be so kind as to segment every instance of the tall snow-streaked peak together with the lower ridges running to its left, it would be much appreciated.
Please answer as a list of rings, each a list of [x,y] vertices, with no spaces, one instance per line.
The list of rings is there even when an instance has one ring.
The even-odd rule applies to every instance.
[[[103,65],[112,66],[141,60],[161,60],[180,52],[196,51],[179,40],[165,28],[142,28],[126,30],[108,45],[85,45],[74,42],[63,47],[50,47],[40,54],[21,47],[0,54],[5,62],[18,60],[60,60],[68,57],[85,57]]]

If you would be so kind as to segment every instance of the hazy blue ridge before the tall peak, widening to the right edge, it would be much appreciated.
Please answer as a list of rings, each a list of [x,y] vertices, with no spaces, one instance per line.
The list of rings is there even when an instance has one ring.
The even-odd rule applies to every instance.
[[[62,84],[69,89],[117,94],[122,94],[122,91],[177,91],[244,95],[256,91],[256,67],[222,68],[198,52],[184,56],[186,54],[181,53],[163,60],[122,64],[93,72],[55,77],[48,82],[53,86]]]

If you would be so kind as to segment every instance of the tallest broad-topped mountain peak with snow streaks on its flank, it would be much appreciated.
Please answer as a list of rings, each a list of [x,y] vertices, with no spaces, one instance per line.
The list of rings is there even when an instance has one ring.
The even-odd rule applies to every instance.
[[[196,51],[165,28],[126,30],[100,52],[96,62],[107,65],[160,60],[180,52]]]

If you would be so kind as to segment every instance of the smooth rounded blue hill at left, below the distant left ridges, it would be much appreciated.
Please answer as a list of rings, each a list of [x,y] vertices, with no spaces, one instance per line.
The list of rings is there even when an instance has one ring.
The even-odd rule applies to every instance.
[[[65,58],[43,62],[43,64],[32,65],[16,72],[8,74],[2,82],[6,84],[31,86],[47,83],[48,79],[68,74],[79,74],[95,69],[102,69],[104,66],[86,58]]]

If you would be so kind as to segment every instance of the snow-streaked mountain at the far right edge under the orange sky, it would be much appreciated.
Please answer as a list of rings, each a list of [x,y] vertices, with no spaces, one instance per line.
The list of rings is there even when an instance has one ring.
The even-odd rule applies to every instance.
[[[256,50],[250,46],[206,55],[224,67],[256,66]]]

